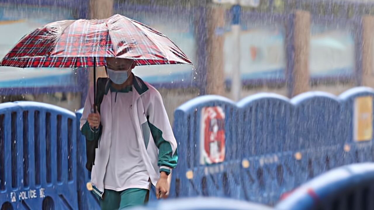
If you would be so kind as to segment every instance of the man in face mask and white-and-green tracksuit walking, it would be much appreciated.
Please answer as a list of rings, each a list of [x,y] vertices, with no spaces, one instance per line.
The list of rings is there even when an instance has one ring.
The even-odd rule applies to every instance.
[[[86,140],[97,142],[91,183],[102,210],[146,203],[151,184],[157,198],[166,197],[168,175],[177,165],[177,142],[162,97],[132,74],[134,67],[134,60],[107,58],[109,79],[99,78],[104,86],[98,85],[98,113],[91,89],[80,119]]]

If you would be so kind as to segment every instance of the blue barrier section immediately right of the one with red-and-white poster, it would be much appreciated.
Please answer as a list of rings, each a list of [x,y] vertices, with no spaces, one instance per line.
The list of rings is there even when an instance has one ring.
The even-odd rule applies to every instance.
[[[287,152],[293,106],[289,99],[270,93],[249,96],[238,102],[239,139],[242,159],[248,161],[240,173],[243,198],[271,203],[284,188],[282,151]],[[288,159],[286,159],[288,160]],[[245,165],[245,164],[243,164]],[[287,177],[289,180],[291,177]]]

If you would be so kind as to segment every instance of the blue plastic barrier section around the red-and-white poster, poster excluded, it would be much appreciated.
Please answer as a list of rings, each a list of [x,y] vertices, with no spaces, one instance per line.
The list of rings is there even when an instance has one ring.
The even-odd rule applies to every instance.
[[[226,138],[226,160],[230,172],[223,171],[224,165],[199,167],[200,159],[200,116],[207,106],[221,106],[225,113],[224,130]],[[232,101],[221,96],[202,96],[180,106],[174,114],[174,132],[178,141],[178,166],[173,170],[171,197],[180,196],[221,196],[237,195],[235,180],[239,182],[237,160],[239,159],[240,141],[236,137],[236,106]],[[233,160],[233,162],[230,162]],[[229,163],[230,162],[230,163]],[[240,166],[240,165],[239,165]],[[233,172],[233,173],[232,173]],[[187,179],[191,176],[193,179]],[[225,184],[223,184],[225,183]],[[214,186],[214,191],[209,190]],[[236,198],[239,198],[236,196]]]

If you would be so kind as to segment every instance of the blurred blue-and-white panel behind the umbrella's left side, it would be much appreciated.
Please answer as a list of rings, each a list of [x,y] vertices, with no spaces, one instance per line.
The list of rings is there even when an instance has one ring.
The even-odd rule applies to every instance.
[[[38,27],[63,19],[74,19],[70,9],[0,4],[0,57]],[[1,67],[0,88],[71,87],[77,86],[72,69]]]

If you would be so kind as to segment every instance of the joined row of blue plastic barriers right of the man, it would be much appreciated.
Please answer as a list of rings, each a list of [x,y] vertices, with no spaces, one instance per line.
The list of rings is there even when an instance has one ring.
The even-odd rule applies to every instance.
[[[374,90],[357,87],[339,97],[308,92],[291,100],[261,93],[237,105],[220,96],[187,102],[174,117],[180,158],[172,196],[275,204],[282,193],[329,169],[372,161],[373,139],[353,140],[355,100],[362,96],[373,100]],[[199,162],[200,111],[209,106],[226,113],[226,158],[212,165]]]

